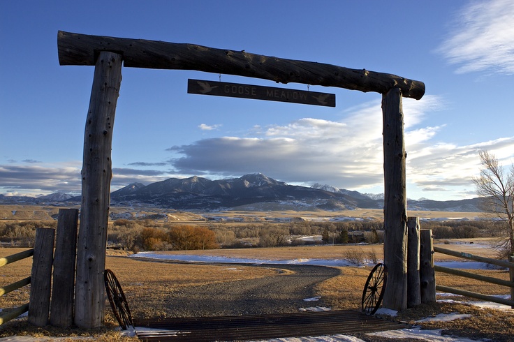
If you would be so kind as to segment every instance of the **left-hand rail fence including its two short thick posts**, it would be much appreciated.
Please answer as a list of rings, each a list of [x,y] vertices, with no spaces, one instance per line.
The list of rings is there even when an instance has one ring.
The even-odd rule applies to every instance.
[[[0,325],[27,311],[28,321],[38,327],[48,324],[50,313],[51,325],[72,325],[77,227],[78,209],[59,209],[57,239],[53,228],[36,228],[34,248],[0,258],[3,267],[33,257],[31,276],[0,287],[1,296],[30,284],[29,303],[1,313]]]

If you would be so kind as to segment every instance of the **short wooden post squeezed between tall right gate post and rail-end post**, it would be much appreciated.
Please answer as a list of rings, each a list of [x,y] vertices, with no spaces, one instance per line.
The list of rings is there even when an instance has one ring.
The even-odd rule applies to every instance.
[[[420,218],[407,219],[407,307],[421,304]]]

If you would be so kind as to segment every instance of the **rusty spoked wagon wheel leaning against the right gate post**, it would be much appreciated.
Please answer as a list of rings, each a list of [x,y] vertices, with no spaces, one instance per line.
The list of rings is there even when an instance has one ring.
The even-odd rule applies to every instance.
[[[362,292],[362,311],[364,313],[373,315],[379,310],[387,281],[388,268],[386,265],[375,265],[367,277],[366,285]]]

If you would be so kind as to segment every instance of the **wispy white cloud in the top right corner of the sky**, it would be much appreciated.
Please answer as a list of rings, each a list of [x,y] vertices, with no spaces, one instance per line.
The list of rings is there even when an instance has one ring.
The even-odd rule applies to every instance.
[[[457,73],[514,73],[514,2],[471,2],[455,18],[437,50],[457,65]]]

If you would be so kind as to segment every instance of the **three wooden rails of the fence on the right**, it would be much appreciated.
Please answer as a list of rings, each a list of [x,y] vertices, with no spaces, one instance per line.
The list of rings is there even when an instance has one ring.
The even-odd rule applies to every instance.
[[[462,296],[466,296],[466,297],[487,300],[489,302],[510,305],[511,308],[514,308],[514,296],[513,296],[513,293],[514,293],[513,292],[513,290],[514,290],[514,272],[513,272],[514,271],[514,262],[507,262],[504,260],[485,258],[480,255],[473,255],[470,253],[451,251],[450,249],[441,248],[441,247],[434,247],[434,252],[442,253],[442,254],[446,254],[446,255],[452,255],[457,258],[464,258],[467,260],[475,260],[475,261],[483,262],[483,263],[489,264],[489,265],[507,267],[508,269],[511,270],[511,272],[510,272],[511,280],[505,281],[503,279],[493,278],[490,276],[482,276],[480,274],[473,274],[471,272],[461,271],[460,269],[451,269],[448,267],[442,267],[442,266],[438,266],[438,265],[434,266],[434,270],[437,272],[454,274],[456,276],[462,276],[464,278],[472,278],[472,279],[476,279],[478,281],[485,281],[487,283],[493,283],[496,285],[507,286],[508,288],[511,288],[511,299],[510,300],[504,299],[504,298],[499,298],[499,297],[494,297],[494,296],[489,296],[489,295],[483,295],[483,294],[477,293],[477,292],[460,290],[457,288],[450,288],[448,286],[441,286],[441,285],[436,285],[436,290],[453,293],[454,295],[462,295]]]

